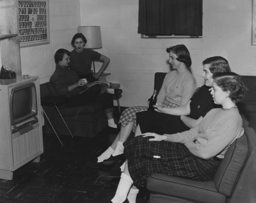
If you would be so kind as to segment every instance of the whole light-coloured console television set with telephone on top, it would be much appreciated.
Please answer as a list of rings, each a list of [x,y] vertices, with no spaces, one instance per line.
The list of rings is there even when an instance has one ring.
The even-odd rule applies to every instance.
[[[0,79],[0,178],[43,153],[39,77]]]

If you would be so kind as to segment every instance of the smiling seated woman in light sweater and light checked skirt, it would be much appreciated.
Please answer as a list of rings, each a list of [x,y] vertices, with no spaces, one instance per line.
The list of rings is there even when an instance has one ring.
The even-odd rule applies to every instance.
[[[157,104],[163,107],[178,107],[185,105],[196,89],[196,80],[190,73],[191,58],[184,45],[167,48],[169,63],[173,71],[167,73],[161,90],[157,95]],[[103,162],[111,155],[123,153],[123,142],[136,129],[136,113],[146,111],[147,106],[130,107],[123,111],[119,122],[121,129],[112,145],[98,157],[98,162]]]

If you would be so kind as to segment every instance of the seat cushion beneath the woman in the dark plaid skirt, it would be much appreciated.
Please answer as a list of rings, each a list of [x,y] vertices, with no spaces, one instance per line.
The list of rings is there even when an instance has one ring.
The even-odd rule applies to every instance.
[[[226,202],[226,196],[217,192],[213,181],[202,182],[163,174],[150,174],[147,179],[147,189],[152,193],[196,202]]]

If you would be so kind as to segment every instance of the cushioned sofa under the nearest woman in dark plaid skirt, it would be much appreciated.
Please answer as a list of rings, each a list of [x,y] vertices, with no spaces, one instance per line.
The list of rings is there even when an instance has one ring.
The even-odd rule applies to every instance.
[[[157,73],[157,76],[158,80],[163,79],[163,73]],[[157,83],[162,84],[161,81]],[[201,182],[151,174],[146,184],[150,191],[148,203],[256,202],[256,134],[254,129],[249,127],[247,119],[242,117],[244,136],[237,139],[228,149],[214,180]]]

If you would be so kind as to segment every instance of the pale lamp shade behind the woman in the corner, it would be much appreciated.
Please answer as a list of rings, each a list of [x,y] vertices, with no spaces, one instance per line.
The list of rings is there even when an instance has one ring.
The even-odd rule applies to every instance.
[[[102,48],[101,27],[100,26],[79,26],[78,32],[82,33],[87,40],[85,48]]]

